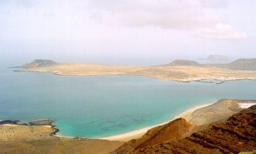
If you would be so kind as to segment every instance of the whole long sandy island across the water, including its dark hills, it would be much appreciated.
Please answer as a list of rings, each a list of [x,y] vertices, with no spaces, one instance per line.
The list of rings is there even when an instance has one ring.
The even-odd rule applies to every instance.
[[[226,64],[199,64],[190,60],[174,60],[157,66],[111,66],[95,63],[57,63],[34,60],[18,72],[53,72],[56,75],[141,75],[181,82],[200,80],[256,80],[256,59],[239,59]]]

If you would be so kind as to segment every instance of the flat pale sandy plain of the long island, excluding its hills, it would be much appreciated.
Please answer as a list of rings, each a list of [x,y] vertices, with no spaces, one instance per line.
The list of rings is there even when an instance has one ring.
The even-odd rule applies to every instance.
[[[140,75],[182,82],[199,80],[256,80],[255,70],[231,70],[212,66],[111,66],[93,63],[58,63],[19,70],[53,72],[56,75]]]

